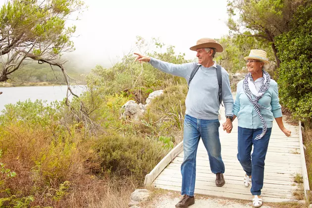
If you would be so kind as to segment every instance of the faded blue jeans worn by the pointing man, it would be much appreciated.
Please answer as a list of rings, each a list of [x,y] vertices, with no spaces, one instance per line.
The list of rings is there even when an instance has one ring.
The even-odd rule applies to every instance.
[[[183,138],[184,159],[181,164],[182,195],[194,196],[196,154],[201,137],[208,152],[211,172],[214,174],[224,173],[219,126],[220,122],[218,119],[204,120],[185,115]]]

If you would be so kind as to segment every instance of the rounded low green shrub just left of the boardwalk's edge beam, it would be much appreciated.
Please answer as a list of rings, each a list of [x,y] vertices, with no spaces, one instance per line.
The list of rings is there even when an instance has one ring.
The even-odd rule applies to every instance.
[[[120,135],[102,136],[94,148],[104,172],[132,176],[141,183],[167,152],[159,142]]]

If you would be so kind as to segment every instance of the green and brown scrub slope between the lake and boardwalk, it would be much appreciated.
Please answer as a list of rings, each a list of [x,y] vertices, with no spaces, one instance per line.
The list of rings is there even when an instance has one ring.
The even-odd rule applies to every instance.
[[[173,49],[168,47],[164,56],[151,53],[186,62]],[[135,63],[134,56],[127,55],[110,69],[97,66],[87,80],[87,91],[72,100],[71,108],[64,102],[30,100],[5,106],[0,114],[3,162],[17,173],[7,181],[11,194],[5,196],[5,205],[86,206],[92,201],[86,196],[100,197],[86,193],[103,193],[107,179],[127,177],[131,180],[127,183],[141,186],[144,176],[181,141],[184,79]],[[144,104],[157,89],[164,89],[164,95],[153,100],[140,120],[121,117],[123,104],[129,100]],[[89,124],[77,116],[81,102]]]

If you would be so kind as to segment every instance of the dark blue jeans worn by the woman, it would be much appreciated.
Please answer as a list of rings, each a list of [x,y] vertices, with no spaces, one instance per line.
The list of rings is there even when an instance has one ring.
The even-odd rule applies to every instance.
[[[264,159],[270,140],[272,128],[267,128],[265,135],[260,140],[256,136],[262,128],[247,129],[238,127],[238,154],[237,158],[248,176],[252,176],[252,195],[261,195],[264,176]],[[254,152],[252,155],[252,146]]]

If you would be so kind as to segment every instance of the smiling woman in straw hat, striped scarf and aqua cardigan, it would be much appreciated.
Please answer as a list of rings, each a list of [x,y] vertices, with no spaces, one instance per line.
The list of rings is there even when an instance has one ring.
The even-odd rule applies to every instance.
[[[279,128],[289,137],[291,131],[284,127],[277,83],[265,71],[269,66],[266,52],[251,50],[246,60],[248,72],[237,84],[234,117],[238,119],[238,154],[246,172],[244,185],[252,184],[253,206],[261,207],[264,159],[271,135],[273,118]],[[226,129],[231,131],[231,129]],[[251,156],[252,146],[254,152]]]

